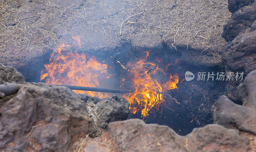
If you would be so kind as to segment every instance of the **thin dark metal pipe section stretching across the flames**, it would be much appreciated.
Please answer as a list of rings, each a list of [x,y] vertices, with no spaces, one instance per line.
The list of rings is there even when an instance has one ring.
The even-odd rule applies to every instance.
[[[95,91],[95,92],[110,92],[110,93],[127,93],[132,92],[132,90],[118,90],[118,89],[106,89],[106,88],[96,88],[96,87],[81,87],[81,86],[70,86],[70,85],[59,85],[51,84],[51,86],[64,86],[71,90],[83,90],[83,91]]]

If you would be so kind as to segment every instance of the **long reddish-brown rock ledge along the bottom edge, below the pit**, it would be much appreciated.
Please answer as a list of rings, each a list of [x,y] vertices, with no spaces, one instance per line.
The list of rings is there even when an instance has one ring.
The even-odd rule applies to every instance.
[[[140,119],[116,121],[108,124],[108,132],[95,138],[84,151],[246,151],[249,139],[236,129],[220,125],[195,128],[180,136],[165,125],[145,124]],[[103,140],[108,139],[108,140]],[[103,142],[103,144],[102,144]]]

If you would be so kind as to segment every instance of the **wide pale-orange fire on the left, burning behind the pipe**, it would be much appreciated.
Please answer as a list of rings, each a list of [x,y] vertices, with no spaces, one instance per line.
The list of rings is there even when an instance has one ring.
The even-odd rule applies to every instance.
[[[73,37],[77,38],[77,37]],[[80,41],[78,41],[80,45]],[[40,80],[45,79],[46,84],[66,84],[84,87],[98,87],[99,79],[109,78],[107,65],[96,61],[95,57],[87,59],[85,54],[77,51],[68,51],[71,46],[62,44],[50,57],[50,64],[45,64],[41,72]],[[103,95],[99,92],[74,90],[76,93],[83,93],[100,98]]]

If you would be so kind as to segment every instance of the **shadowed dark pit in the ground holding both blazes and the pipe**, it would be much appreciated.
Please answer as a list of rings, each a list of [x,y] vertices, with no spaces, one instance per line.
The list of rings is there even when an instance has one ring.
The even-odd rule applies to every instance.
[[[60,45],[52,53],[50,63],[44,65],[40,80],[46,84],[70,85],[76,93],[100,98],[112,94],[123,96],[130,103],[128,119],[168,125],[181,135],[212,123],[210,107],[223,92],[224,84],[187,82],[185,72],[218,71],[218,68],[188,65],[180,60],[178,52],[168,49],[146,49],[140,53],[120,50],[121,53],[92,56],[90,52],[78,51],[77,46],[79,43]],[[103,90],[83,91],[74,86]]]

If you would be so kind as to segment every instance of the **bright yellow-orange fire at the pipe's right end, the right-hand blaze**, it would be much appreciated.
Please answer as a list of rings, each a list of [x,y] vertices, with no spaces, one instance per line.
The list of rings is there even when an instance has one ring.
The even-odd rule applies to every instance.
[[[157,107],[165,101],[165,97],[161,92],[177,88],[176,84],[179,82],[177,75],[170,75],[170,79],[164,84],[160,84],[157,80],[153,79],[154,75],[164,73],[165,70],[159,68],[155,63],[147,62],[147,57],[142,57],[136,59],[133,63],[128,63],[127,67],[129,72],[131,72],[129,77],[132,80],[132,89],[134,91],[123,95],[130,103],[129,109],[131,112],[141,111],[143,117],[147,117],[148,112],[153,107]],[[121,82],[123,81],[124,79]]]

